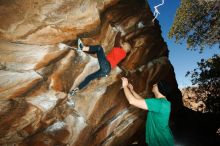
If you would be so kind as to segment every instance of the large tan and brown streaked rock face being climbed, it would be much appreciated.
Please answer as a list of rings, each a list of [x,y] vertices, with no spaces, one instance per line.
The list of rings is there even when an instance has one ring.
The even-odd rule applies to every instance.
[[[143,127],[146,111],[130,106],[127,76],[137,92],[167,79],[176,89],[168,49],[144,0],[0,1],[0,145],[117,146]],[[108,77],[67,102],[77,81],[97,70],[95,56],[60,42],[101,44],[108,53],[117,32],[132,50]],[[74,46],[74,45],[73,45]]]

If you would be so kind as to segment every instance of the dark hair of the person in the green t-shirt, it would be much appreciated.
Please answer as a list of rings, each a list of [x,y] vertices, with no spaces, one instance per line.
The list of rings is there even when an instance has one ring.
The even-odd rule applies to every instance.
[[[160,93],[162,93],[164,96],[169,96],[171,94],[171,86],[167,83],[165,80],[160,80],[157,82],[158,90]]]

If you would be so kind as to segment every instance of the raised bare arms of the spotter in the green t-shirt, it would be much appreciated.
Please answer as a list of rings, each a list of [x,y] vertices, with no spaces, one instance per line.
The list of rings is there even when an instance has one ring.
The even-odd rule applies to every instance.
[[[129,89],[129,84],[128,84],[128,79],[127,78],[124,78],[122,77],[122,87],[124,89],[124,93],[125,93],[125,96],[128,100],[128,102],[131,104],[131,105],[134,105],[138,108],[141,108],[141,109],[145,109],[145,110],[148,110],[148,107],[147,107],[147,104],[145,103],[145,100],[143,98],[141,98],[139,95],[138,95],[138,98],[136,98],[131,90]],[[137,95],[136,95],[137,96]]]

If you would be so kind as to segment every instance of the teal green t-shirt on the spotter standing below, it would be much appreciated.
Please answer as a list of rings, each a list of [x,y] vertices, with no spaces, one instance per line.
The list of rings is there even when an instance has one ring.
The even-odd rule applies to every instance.
[[[165,98],[145,99],[148,106],[146,143],[149,146],[173,146],[174,139],[169,128],[171,104]]]

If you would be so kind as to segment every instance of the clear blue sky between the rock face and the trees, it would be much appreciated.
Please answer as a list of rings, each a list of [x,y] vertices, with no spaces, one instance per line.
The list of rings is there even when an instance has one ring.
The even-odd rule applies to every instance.
[[[162,0],[148,0],[152,12],[154,11],[154,6],[161,2]],[[161,25],[162,36],[170,50],[169,59],[174,66],[179,88],[191,86],[190,78],[185,77],[186,72],[196,68],[196,62],[200,61],[201,58],[207,59],[213,56],[213,54],[220,54],[220,50],[217,47],[213,47],[212,49],[206,48],[201,54],[199,51],[187,50],[185,42],[180,45],[176,44],[174,39],[169,39],[168,32],[172,26],[176,10],[180,6],[180,0],[164,0],[164,2],[164,5],[158,8],[160,14],[157,20]]]

